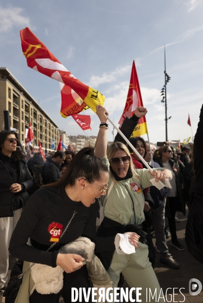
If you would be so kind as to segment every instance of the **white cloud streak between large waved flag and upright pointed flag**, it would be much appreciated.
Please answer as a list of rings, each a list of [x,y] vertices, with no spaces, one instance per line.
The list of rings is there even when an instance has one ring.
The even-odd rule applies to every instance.
[[[115,82],[118,76],[123,76],[124,74],[128,73],[131,70],[131,65],[126,65],[122,67],[117,67],[114,71],[110,73],[103,73],[100,76],[92,76],[90,78],[89,84],[92,87],[97,87],[103,83],[112,83]]]

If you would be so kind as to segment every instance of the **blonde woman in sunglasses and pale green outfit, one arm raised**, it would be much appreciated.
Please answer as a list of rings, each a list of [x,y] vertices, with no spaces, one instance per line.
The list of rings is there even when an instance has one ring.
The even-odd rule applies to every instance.
[[[152,176],[146,169],[136,170],[127,146],[121,142],[114,142],[106,153],[108,128],[106,115],[108,113],[101,106],[97,106],[96,109],[101,124],[95,153],[96,156],[102,158],[109,171],[107,194],[106,197],[101,197],[105,217],[97,235],[115,236],[117,233],[127,232],[129,241],[136,248],[135,254],[119,255],[116,250],[110,251],[107,247],[106,252],[100,254],[99,257],[108,269],[114,287],[117,287],[120,273],[122,273],[130,287],[142,287],[139,298],[146,302],[146,288],[150,287],[153,293],[156,289],[159,293],[160,286],[148,259],[148,246],[138,226],[145,220],[142,190],[152,185],[150,182],[152,176],[158,182],[158,180],[165,181],[165,178],[168,178],[168,175],[172,177],[172,174],[163,168],[154,169]],[[155,302],[155,297],[151,302]],[[159,302],[164,302],[164,300],[159,299]]]

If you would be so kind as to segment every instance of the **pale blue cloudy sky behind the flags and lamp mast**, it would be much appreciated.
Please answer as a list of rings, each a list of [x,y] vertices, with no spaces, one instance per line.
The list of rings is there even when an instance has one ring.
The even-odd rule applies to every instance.
[[[26,65],[19,31],[28,26],[80,81],[106,97],[114,122],[123,113],[135,60],[150,141],[165,140],[164,85],[166,44],[169,140],[196,132],[203,95],[202,0],[0,0],[0,66],[7,67],[68,135],[84,134],[72,117],[60,112],[57,81]],[[91,111],[92,131],[99,120]],[[112,127],[109,126],[111,129]],[[107,131],[108,139],[112,134]]]

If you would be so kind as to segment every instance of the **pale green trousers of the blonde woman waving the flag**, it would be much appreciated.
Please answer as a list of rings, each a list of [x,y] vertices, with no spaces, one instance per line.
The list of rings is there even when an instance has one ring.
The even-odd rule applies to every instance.
[[[141,293],[139,299],[142,299],[142,302],[165,302],[164,299],[161,298],[158,300],[160,286],[149,262],[148,246],[146,244],[139,242],[136,252],[131,255],[118,255],[115,250],[111,265],[108,269],[108,274],[113,281],[114,287],[117,287],[120,273],[124,275],[130,288],[142,287],[142,289],[139,290],[139,293]],[[156,291],[156,298],[154,296],[152,299],[150,295],[149,300],[149,291],[151,291],[152,294]],[[161,296],[163,297],[162,293],[160,297]]]

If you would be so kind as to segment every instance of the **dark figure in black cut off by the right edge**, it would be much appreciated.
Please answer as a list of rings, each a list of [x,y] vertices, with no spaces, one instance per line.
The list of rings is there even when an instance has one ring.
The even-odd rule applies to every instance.
[[[203,263],[203,105],[199,115],[199,123],[194,136],[194,192],[189,209],[185,242],[190,254]]]

